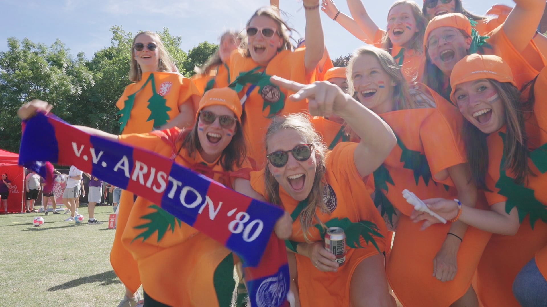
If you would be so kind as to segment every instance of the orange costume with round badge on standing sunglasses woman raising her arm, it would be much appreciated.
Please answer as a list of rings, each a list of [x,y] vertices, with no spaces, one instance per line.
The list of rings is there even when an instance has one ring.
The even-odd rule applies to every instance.
[[[237,50],[230,56],[230,79],[238,83],[235,89],[240,93],[240,97],[248,96],[243,107],[243,113],[245,113],[243,132],[247,137],[247,156],[257,161],[259,167],[263,166],[265,161],[264,135],[270,119],[280,114],[306,112],[307,105],[306,99],[299,102],[286,102],[287,97],[294,92],[279,88],[265,78],[256,86],[250,84],[253,84],[255,77],[271,75],[302,84],[309,83],[310,77],[306,76],[304,66],[304,54],[304,48],[294,52],[283,50],[270,60],[265,69],[251,57],[246,57]],[[223,86],[219,78],[216,79],[216,83],[217,86]],[[252,88],[247,95],[249,87]]]

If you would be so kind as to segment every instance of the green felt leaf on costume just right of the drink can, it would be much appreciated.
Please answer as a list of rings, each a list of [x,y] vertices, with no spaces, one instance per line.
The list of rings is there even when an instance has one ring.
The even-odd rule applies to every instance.
[[[327,229],[330,227],[340,227],[344,229],[344,233],[346,234],[346,245],[350,246],[352,249],[358,249],[358,248],[366,248],[366,246],[362,246],[360,244],[360,238],[362,237],[367,244],[371,243],[373,244],[376,249],[380,252],[380,248],[378,247],[378,244],[376,243],[376,240],[374,239],[373,235],[376,235],[379,238],[383,238],[383,235],[378,232],[379,229],[376,226],[375,223],[370,221],[360,221],[353,223],[348,219],[347,217],[344,217],[344,219],[338,219],[335,217],[334,219],[329,220],[325,223],[325,226],[327,226],[327,229],[324,229],[321,225],[316,224],[314,225],[317,229],[319,229],[319,234],[321,235],[321,239],[325,239],[325,234],[327,234]]]

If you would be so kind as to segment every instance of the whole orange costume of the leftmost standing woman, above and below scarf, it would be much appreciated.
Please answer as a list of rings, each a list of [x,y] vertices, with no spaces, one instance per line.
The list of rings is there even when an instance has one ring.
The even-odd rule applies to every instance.
[[[176,73],[143,73],[141,81],[128,85],[116,106],[123,114],[120,122],[121,134],[146,133],[154,127],[164,125],[179,114],[179,105],[192,98],[197,107],[199,92],[193,82]],[[124,232],[133,204],[133,193],[122,191],[118,209],[118,223],[110,263],[121,282],[130,291],[141,286],[137,263],[123,245]]]

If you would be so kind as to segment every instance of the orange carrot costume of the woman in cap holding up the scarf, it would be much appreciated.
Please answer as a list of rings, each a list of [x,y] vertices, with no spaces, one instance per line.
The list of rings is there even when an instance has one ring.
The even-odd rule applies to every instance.
[[[120,135],[119,139],[172,157],[182,140],[174,143],[170,140],[176,139],[179,133],[180,129],[172,128]],[[208,163],[199,152],[190,156],[183,148],[174,161],[231,186],[230,173],[220,166],[219,161]],[[170,306],[225,306],[225,302],[230,302],[233,287],[218,287],[219,281],[226,285],[233,279],[234,261],[230,250],[159,206],[137,197],[121,241],[138,263],[144,291],[158,302]],[[229,272],[227,277],[221,274],[226,272]],[[223,276],[223,279],[217,280],[218,276]]]

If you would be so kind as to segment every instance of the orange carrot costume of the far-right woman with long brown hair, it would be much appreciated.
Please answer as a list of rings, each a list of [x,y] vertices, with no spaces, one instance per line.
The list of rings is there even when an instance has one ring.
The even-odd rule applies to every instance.
[[[534,116],[526,122],[526,132],[528,134],[528,146],[531,150],[547,143],[547,108],[540,97],[545,97],[547,93],[547,70],[543,69],[536,81],[534,87],[536,102],[534,103]],[[538,99],[539,98],[539,99]],[[547,273],[547,255],[545,251],[539,251],[547,244],[547,224],[541,219],[534,222],[534,228],[531,227],[530,215],[526,206],[547,205],[547,173],[542,173],[534,164],[536,156],[531,155],[528,160],[528,166],[536,176],[528,176],[528,181],[522,191],[516,191],[516,185],[513,185],[510,179],[499,181],[501,174],[501,163],[503,156],[503,139],[500,133],[505,133],[505,127],[500,131],[491,133],[488,138],[488,174],[486,176],[488,188],[492,192],[486,192],[488,203],[495,204],[508,201],[508,193],[514,196],[510,205],[517,205],[520,215],[526,215],[522,220],[519,231],[514,236],[492,235],[492,239],[484,252],[479,268],[477,269],[477,294],[484,306],[519,306],[511,292],[513,280],[520,269],[530,259],[536,256],[536,263],[544,276]],[[540,149],[539,149],[540,151]],[[538,151],[536,151],[536,154]],[[547,157],[539,157],[539,163],[545,165]],[[536,161],[538,162],[538,161]],[[505,174],[512,176],[510,172]],[[507,178],[504,176],[504,178]],[[498,184],[499,182],[499,184]],[[509,184],[509,185],[508,185]],[[503,191],[500,191],[503,188]],[[533,190],[533,191],[530,191]],[[502,193],[502,194],[500,194]],[[509,194],[510,195],[510,194]],[[532,198],[533,197],[533,198]],[[539,203],[538,203],[539,202]],[[511,206],[512,208],[512,206]],[[543,216],[547,214],[546,210],[537,209],[534,216]],[[539,252],[538,252],[539,251]]]

